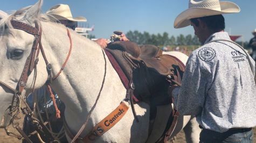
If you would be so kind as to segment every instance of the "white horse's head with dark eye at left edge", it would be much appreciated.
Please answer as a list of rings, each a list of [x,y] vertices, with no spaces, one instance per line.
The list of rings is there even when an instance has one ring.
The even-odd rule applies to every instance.
[[[35,35],[18,29],[15,25],[25,24],[25,27],[34,27],[35,23],[39,22],[41,18],[41,5],[43,1],[39,1],[35,5],[27,6],[26,8],[17,10],[16,12],[8,15],[7,13],[0,11],[0,120],[2,120],[3,113],[8,113],[12,104],[13,95],[17,94],[20,89],[19,84],[23,84],[24,92],[20,95],[24,96],[26,93],[31,91],[33,87],[33,81],[35,76],[29,76],[34,74],[34,67],[31,62],[26,62],[31,54],[34,43]],[[16,27],[16,28],[15,28]],[[33,61],[34,63],[35,61]],[[28,68],[30,71],[24,71],[24,67],[31,66]],[[37,76],[37,80],[34,87],[39,88],[47,79],[45,63],[43,60],[39,60],[37,67],[42,69],[39,71],[40,76]],[[46,69],[46,68],[45,68]],[[27,81],[20,82],[21,75],[24,72],[29,72],[27,75]],[[24,78],[24,77],[23,77]],[[26,79],[25,79],[26,80]],[[18,88],[19,87],[19,88]],[[22,91],[20,89],[20,91]],[[16,93],[15,93],[16,92]],[[20,101],[20,99],[18,99]],[[10,116],[5,115],[5,119]],[[5,120],[5,124],[8,124],[8,120]]]

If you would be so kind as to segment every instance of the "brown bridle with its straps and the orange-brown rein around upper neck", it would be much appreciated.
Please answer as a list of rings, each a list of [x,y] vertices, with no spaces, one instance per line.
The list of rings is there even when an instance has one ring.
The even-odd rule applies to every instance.
[[[22,109],[23,113],[25,113],[26,115],[28,115],[31,118],[31,121],[32,121],[33,124],[37,125],[36,131],[38,133],[45,133],[45,137],[47,137],[50,141],[52,141],[52,140],[55,140],[55,139],[53,138],[53,135],[51,134],[51,132],[44,125],[44,123],[42,123],[37,118],[33,117],[34,112],[32,112],[29,105],[27,105],[26,102],[20,96],[22,94],[22,91],[25,89],[27,79],[28,79],[29,75],[32,73],[33,69],[35,69],[35,72],[36,72],[36,66],[37,66],[37,63],[38,63],[38,60],[39,60],[38,56],[39,56],[40,51],[41,51],[41,54],[43,55],[43,58],[44,58],[44,61],[45,61],[45,64],[46,64],[47,73],[48,73],[48,79],[47,79],[46,85],[49,88],[49,91],[51,92],[51,87],[50,87],[51,80],[53,80],[53,81],[56,80],[56,78],[60,75],[61,71],[66,66],[68,58],[70,57],[70,54],[71,54],[71,51],[72,51],[72,39],[71,39],[70,31],[67,29],[68,37],[70,39],[70,44],[71,44],[70,45],[70,51],[68,52],[67,58],[66,58],[66,60],[63,64],[63,66],[59,70],[58,74],[56,76],[54,76],[53,78],[51,78],[52,66],[51,66],[51,63],[49,63],[47,61],[43,46],[41,44],[42,29],[39,26],[37,21],[35,21],[34,23],[35,23],[35,27],[32,27],[31,25],[25,24],[23,22],[18,22],[16,20],[11,20],[11,25],[12,25],[13,28],[15,28],[17,30],[22,30],[22,31],[25,31],[26,33],[34,35],[34,41],[33,41],[33,46],[31,48],[31,53],[26,59],[25,66],[24,66],[24,69],[22,71],[22,75],[20,76],[20,79],[17,83],[16,89],[10,87],[8,84],[6,84],[2,81],[0,81],[0,85],[2,85],[5,88],[8,88],[13,93],[13,99],[12,99],[10,112],[9,112],[9,115],[12,116],[11,120],[10,120],[10,123],[12,123],[12,126],[14,128],[16,128],[16,130],[22,135],[22,137],[27,142],[32,142],[30,140],[30,138],[24,133],[22,128],[19,127],[19,123],[14,121],[14,119],[16,119],[18,114],[20,113],[20,109],[22,109],[20,107],[21,101],[23,101],[26,105],[26,108]],[[36,79],[36,77],[34,79]],[[35,83],[35,80],[33,82]],[[33,91],[34,91],[34,87],[33,87]],[[54,99],[54,95],[52,94],[52,92],[51,92],[51,98],[52,98],[54,107],[56,108],[56,113],[57,113],[56,116],[57,116],[57,118],[58,117],[60,118],[60,111],[57,108],[56,101]],[[5,127],[5,131],[6,131],[6,134],[8,134],[8,135],[12,135],[12,136],[17,137],[18,139],[22,139],[22,137],[20,135],[17,135],[16,133],[12,133],[12,132],[8,131],[6,129],[6,127]],[[40,135],[39,135],[39,140],[40,140]]]

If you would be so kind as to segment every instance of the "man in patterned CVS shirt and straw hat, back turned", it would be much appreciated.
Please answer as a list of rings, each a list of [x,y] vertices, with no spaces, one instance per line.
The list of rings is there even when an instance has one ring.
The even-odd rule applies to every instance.
[[[237,4],[190,0],[175,28],[191,25],[203,46],[191,53],[182,86],[172,86],[175,108],[195,115],[200,142],[253,142],[256,126],[255,62],[224,32],[222,14],[240,12]]]

